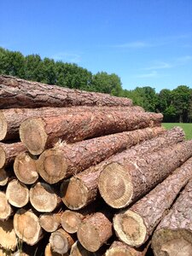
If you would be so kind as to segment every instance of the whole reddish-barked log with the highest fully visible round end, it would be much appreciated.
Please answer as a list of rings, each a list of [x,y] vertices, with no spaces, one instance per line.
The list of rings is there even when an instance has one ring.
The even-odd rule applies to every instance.
[[[85,138],[160,126],[162,117],[161,113],[98,111],[32,118],[26,119],[20,125],[20,140],[31,154],[41,154],[44,149],[54,146],[59,139],[75,143]]]

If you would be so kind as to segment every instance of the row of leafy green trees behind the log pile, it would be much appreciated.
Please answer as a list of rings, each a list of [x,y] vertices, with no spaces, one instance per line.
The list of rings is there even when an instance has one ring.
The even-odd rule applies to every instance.
[[[146,111],[163,113],[165,122],[192,121],[192,89],[187,85],[179,85],[174,90],[163,89],[159,93],[150,86],[124,90],[115,73],[93,74],[74,63],[47,57],[42,59],[40,55],[24,56],[19,51],[3,48],[0,48],[0,73],[45,84],[129,97]]]

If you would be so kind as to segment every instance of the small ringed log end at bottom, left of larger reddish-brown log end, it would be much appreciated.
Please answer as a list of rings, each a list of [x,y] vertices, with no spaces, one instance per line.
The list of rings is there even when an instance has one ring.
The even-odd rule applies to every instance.
[[[49,243],[53,252],[63,254],[72,247],[74,239],[65,230],[59,229],[51,233]]]

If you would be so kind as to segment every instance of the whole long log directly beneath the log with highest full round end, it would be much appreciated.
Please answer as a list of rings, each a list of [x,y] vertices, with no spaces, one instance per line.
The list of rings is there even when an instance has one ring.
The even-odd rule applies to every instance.
[[[38,173],[47,183],[57,183],[64,177],[82,172],[113,154],[163,132],[162,127],[154,127],[96,137],[74,144],[60,143],[40,155]]]

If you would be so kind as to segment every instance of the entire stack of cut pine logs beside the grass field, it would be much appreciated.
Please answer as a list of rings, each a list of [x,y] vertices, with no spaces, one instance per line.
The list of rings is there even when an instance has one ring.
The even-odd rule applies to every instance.
[[[3,75],[0,108],[0,255],[192,255],[181,128],[127,98]]]

